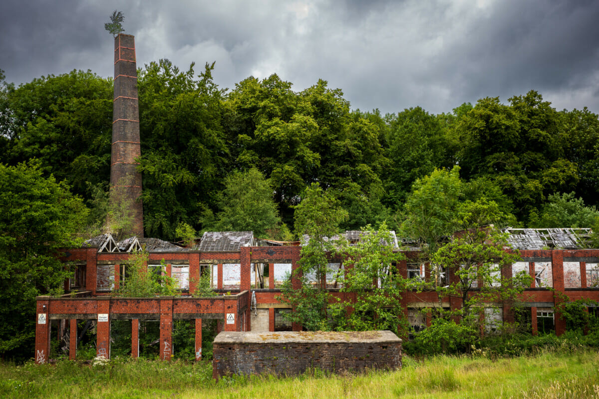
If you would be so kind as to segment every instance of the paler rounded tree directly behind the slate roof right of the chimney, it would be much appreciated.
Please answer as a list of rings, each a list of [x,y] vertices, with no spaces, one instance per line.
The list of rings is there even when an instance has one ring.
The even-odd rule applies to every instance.
[[[281,234],[276,238],[289,238],[289,229],[281,224],[273,200],[273,187],[258,169],[226,177],[220,208],[214,222],[205,226],[205,230],[253,231],[258,238],[277,231]]]

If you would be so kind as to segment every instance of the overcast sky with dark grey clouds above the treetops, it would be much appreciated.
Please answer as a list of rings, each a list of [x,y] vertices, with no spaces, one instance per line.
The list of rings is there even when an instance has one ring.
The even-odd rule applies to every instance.
[[[599,112],[599,2],[558,0],[2,0],[0,69],[16,84],[91,69],[113,75],[104,23],[125,14],[138,66],[216,61],[232,88],[276,73],[327,80],[353,109],[383,113],[534,89],[557,109]]]

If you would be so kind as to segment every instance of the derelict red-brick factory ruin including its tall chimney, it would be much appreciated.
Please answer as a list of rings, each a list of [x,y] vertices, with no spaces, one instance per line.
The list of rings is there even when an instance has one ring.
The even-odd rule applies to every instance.
[[[159,320],[160,357],[170,360],[173,354],[173,320],[195,321],[196,359],[201,358],[202,319],[219,320],[222,331],[301,331],[302,326],[286,324],[282,314],[289,312],[280,296],[280,285],[291,275],[300,258],[300,247],[282,245],[269,240],[258,241],[252,232],[205,233],[196,245],[182,248],[159,239],[143,237],[143,207],[140,200],[141,175],[136,169],[140,156],[140,130],[137,99],[137,71],[134,38],[120,34],[115,39],[114,52],[114,115],[111,160],[111,200],[133,206],[135,226],[130,238],[116,242],[110,234],[87,240],[81,248],[66,252],[65,261],[75,264],[75,275],[65,282],[69,297],[38,297],[35,339],[35,360],[49,360],[51,323],[69,328],[69,357],[76,357],[77,321],[92,320],[96,325],[96,354],[110,357],[110,321],[131,320],[131,354],[139,355],[138,328],[141,320]],[[570,300],[599,300],[599,249],[582,249],[579,233],[574,229],[511,229],[514,248],[521,249],[522,261],[501,265],[501,276],[510,278],[525,271],[533,278],[531,287],[522,294],[525,321],[531,330],[553,329],[556,334],[565,331],[565,322],[555,311],[555,304],[563,298]],[[346,232],[347,239],[355,242],[359,232]],[[400,251],[397,239],[395,247]],[[149,252],[149,273],[164,273],[177,282],[179,293],[173,297],[121,298],[111,293],[126,278],[123,261],[132,251],[145,248]],[[546,249],[551,248],[551,249]],[[405,251],[407,260],[392,265],[394,272],[404,278],[431,280],[426,264],[418,261],[419,248]],[[342,258],[331,259],[330,273],[323,276],[323,284],[336,296],[344,296],[335,279],[338,272],[346,273]],[[165,266],[162,266],[164,264]],[[348,268],[349,269],[349,268]],[[217,296],[196,298],[190,296],[200,276],[210,277],[210,286]],[[449,273],[449,281],[456,279]],[[294,287],[299,281],[292,279]],[[479,282],[482,284],[482,282]],[[501,287],[497,287],[501,289]],[[230,293],[230,295],[223,295]],[[403,312],[410,324],[418,330],[431,324],[431,313],[423,316],[423,308],[439,306],[434,292],[407,292],[403,295]],[[513,321],[511,304],[497,303],[500,311],[485,314],[486,318]],[[441,306],[458,309],[461,300],[447,297]],[[589,311],[596,312],[591,308]],[[492,324],[492,323],[490,323]],[[67,327],[68,326],[68,327]]]

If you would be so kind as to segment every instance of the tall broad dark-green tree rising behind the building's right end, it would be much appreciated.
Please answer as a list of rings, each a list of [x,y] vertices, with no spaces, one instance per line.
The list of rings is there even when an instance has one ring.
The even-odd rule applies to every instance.
[[[525,221],[547,195],[576,188],[580,173],[563,151],[563,115],[534,90],[509,102],[480,99],[461,118],[456,161],[466,180],[493,179],[512,200],[516,217]]]

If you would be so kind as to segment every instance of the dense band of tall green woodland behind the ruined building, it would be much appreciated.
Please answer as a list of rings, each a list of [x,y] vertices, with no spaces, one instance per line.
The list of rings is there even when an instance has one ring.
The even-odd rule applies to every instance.
[[[512,227],[591,223],[584,215],[598,202],[599,118],[587,108],[557,111],[531,91],[437,115],[419,106],[382,115],[350,109],[323,80],[301,92],[277,75],[220,89],[213,68],[196,74],[194,65],[181,71],[160,60],[139,71],[146,236],[178,239],[186,223],[289,237],[294,207],[314,182],[348,212],[341,229],[386,221],[400,231],[418,182],[444,172],[459,179],[455,200],[493,200]],[[90,71],[19,87],[3,81],[0,161],[39,160],[97,219],[110,175],[112,90]],[[268,226],[235,216],[268,202],[276,211]],[[556,219],[555,206],[577,216]]]

